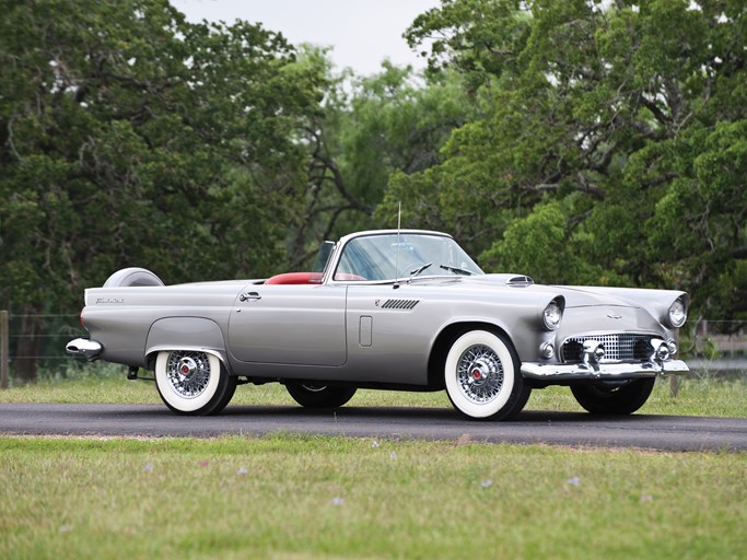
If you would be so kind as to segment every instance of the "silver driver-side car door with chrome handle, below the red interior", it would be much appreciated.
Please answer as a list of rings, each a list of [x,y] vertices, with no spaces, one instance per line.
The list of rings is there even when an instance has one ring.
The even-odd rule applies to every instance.
[[[247,285],[229,323],[242,362],[339,366],[347,361],[346,285]]]

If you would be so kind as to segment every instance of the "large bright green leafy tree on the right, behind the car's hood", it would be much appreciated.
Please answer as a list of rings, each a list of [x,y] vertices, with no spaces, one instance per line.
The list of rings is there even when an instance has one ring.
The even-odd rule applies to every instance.
[[[744,312],[746,25],[737,1],[443,0],[407,36],[488,109],[380,211],[408,200],[491,269]]]

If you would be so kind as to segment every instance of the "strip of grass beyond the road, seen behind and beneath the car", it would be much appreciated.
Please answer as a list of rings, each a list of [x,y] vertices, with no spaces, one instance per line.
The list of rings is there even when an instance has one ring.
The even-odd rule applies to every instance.
[[[95,364],[90,369],[73,370],[67,378],[46,377],[33,385],[0,390],[0,401],[160,404],[161,399],[152,382],[127,381],[122,368]],[[232,405],[295,406],[295,401],[284,387],[272,383],[240,386]],[[451,402],[444,392],[360,390],[347,406],[451,408]],[[582,408],[567,387],[549,387],[533,392],[526,410],[581,411]],[[684,378],[676,398],[669,394],[669,380],[658,380],[640,413],[747,418],[747,377]]]

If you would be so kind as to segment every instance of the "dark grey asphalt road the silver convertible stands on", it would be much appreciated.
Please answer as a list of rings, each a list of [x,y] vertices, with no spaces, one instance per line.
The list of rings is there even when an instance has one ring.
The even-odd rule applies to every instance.
[[[0,433],[194,436],[270,433],[349,438],[545,443],[662,451],[747,451],[747,419],[524,411],[512,422],[476,422],[447,408],[230,406],[215,417],[183,417],[161,405],[0,404]]]

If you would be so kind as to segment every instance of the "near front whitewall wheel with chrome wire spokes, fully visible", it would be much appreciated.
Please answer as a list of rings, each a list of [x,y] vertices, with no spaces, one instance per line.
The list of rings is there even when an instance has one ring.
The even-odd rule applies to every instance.
[[[446,355],[444,381],[454,408],[480,420],[515,417],[532,392],[524,384],[511,342],[487,330],[471,330],[454,341]]]

